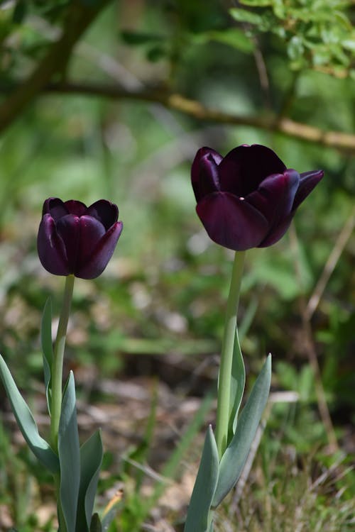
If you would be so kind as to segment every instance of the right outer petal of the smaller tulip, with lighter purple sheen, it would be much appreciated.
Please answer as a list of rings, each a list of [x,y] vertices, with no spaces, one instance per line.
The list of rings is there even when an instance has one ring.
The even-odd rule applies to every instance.
[[[119,240],[122,229],[122,222],[116,222],[109,228],[109,231],[97,243],[92,255],[87,257],[87,260],[82,262],[82,265],[77,268],[75,272],[76,277],[80,277],[81,279],[94,279],[94,277],[102,274],[114,253],[114,248],[116,248],[116,243]]]

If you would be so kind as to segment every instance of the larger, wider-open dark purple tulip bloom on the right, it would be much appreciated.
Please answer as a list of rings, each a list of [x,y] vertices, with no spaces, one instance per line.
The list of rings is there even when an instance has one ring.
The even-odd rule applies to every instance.
[[[209,237],[231,250],[265,248],[285,234],[323,171],[299,174],[270,148],[241,145],[222,157],[200,148],[192,163],[196,211]]]

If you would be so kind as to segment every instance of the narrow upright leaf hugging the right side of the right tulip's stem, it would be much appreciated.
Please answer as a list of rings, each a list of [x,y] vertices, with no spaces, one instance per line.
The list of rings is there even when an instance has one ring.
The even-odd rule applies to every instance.
[[[241,346],[239,343],[238,329],[236,329],[236,338],[234,340],[233,362],[231,366],[231,396],[229,404],[229,434],[228,443],[231,441],[236,432],[241,399],[243,398],[245,387],[245,367]]]

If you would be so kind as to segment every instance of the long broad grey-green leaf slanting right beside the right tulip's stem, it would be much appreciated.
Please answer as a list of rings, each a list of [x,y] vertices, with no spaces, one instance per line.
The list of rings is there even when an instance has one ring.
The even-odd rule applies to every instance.
[[[249,399],[241,412],[236,426],[236,433],[219,464],[219,478],[212,502],[214,508],[220,504],[239,479],[268,401],[270,384],[271,355],[268,355],[263,369],[253,385]]]

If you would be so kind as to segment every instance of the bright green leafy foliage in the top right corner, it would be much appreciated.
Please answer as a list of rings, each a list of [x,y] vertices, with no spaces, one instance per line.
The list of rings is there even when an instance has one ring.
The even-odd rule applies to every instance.
[[[250,24],[251,31],[278,35],[287,45],[294,70],[313,67],[340,76],[344,70],[355,75],[350,1],[241,0],[240,4],[253,9],[230,9],[234,20]]]

